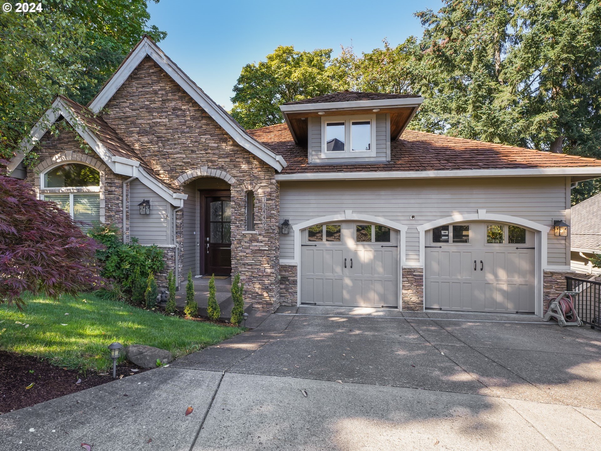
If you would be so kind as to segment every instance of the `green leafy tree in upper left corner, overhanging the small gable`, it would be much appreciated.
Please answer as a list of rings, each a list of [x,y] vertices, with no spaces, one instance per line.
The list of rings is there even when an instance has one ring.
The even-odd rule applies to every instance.
[[[41,12],[0,14],[0,158],[56,94],[87,103],[144,33],[164,38],[149,18],[145,0],[47,0]]]

